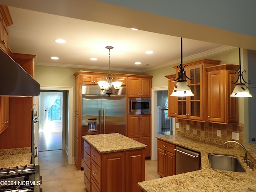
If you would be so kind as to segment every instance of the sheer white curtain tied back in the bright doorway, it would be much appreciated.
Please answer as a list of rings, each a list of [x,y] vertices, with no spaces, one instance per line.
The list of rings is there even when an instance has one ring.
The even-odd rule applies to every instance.
[[[54,104],[59,96],[59,92],[41,92],[40,93],[40,119],[42,132],[48,130],[48,110]]]

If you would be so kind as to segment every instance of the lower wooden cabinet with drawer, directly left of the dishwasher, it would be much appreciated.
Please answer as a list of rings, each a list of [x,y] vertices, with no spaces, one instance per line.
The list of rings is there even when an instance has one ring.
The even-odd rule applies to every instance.
[[[157,173],[161,177],[175,175],[175,145],[157,140]]]

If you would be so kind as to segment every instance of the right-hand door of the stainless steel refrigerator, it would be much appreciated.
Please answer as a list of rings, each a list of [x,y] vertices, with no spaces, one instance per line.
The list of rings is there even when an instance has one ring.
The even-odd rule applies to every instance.
[[[102,95],[102,133],[126,135],[126,96]]]

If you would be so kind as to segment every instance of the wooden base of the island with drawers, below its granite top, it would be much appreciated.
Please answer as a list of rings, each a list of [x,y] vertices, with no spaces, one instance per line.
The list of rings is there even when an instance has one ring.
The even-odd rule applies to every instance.
[[[140,192],[144,149],[100,154],[84,140],[84,184],[88,192]]]

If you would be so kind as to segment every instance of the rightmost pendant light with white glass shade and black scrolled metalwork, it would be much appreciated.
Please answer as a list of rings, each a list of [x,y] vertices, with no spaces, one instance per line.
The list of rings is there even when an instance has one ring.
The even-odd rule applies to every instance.
[[[238,78],[236,80],[236,82],[231,82],[232,84],[236,84],[239,81],[238,84],[236,84],[232,94],[230,95],[230,97],[252,97],[252,95],[249,92],[248,87],[245,85],[246,83],[250,83],[250,81],[246,82],[243,78],[243,73],[246,72],[246,70],[244,70],[243,72],[241,72],[241,56],[240,56],[240,48],[239,48],[239,72],[236,71],[236,73],[238,74]],[[242,83],[242,80],[244,81],[244,83]]]

